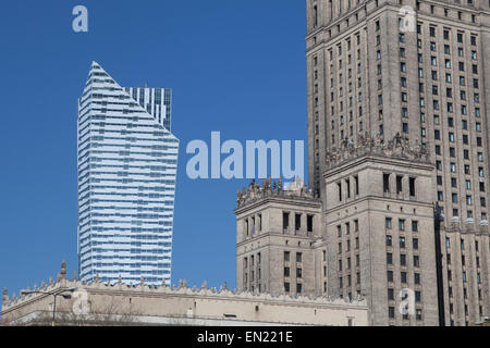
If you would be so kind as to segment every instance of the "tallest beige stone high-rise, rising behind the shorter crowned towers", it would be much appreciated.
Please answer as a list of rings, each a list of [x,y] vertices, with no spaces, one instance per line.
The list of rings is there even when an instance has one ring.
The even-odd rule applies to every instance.
[[[490,3],[307,0],[307,16],[309,184],[324,214],[329,152],[358,146],[365,132],[387,146],[397,134],[420,145],[434,165],[433,185],[418,189],[437,207],[434,228],[420,233],[436,241],[426,252],[436,254],[440,324],[490,315]],[[382,175],[396,176],[384,164]],[[341,276],[334,270],[331,282]],[[399,323],[397,302],[390,303],[377,315]]]

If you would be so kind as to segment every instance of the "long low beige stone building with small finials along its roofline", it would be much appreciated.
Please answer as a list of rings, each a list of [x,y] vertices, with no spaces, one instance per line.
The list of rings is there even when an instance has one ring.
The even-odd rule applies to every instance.
[[[66,289],[73,289],[66,291]],[[53,294],[57,325],[334,325],[365,326],[365,301],[258,295],[226,288],[130,286],[119,282],[85,284],[61,275],[35,287],[45,294],[9,298],[3,293],[1,324],[51,325]]]

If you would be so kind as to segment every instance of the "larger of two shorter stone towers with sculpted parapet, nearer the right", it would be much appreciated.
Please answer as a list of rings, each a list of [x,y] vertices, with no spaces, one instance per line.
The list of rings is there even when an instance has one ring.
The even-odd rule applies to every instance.
[[[323,173],[328,293],[365,297],[372,325],[438,325],[433,165],[401,136],[357,144],[330,152]]]

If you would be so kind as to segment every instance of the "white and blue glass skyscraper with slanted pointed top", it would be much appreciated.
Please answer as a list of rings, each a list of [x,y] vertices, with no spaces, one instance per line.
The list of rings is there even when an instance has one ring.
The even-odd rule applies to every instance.
[[[96,62],[78,99],[82,281],[170,284],[179,139],[171,90],[123,88]]]

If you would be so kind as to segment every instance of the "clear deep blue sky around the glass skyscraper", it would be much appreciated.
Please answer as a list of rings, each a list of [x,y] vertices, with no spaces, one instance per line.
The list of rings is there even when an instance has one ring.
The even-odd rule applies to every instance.
[[[88,34],[72,9],[88,9]],[[181,139],[172,281],[235,285],[236,191],[191,181],[192,139],[306,140],[305,1],[0,2],[0,288],[76,264],[76,99],[91,61],[122,86],[173,89]],[[306,146],[306,141],[305,141]]]

